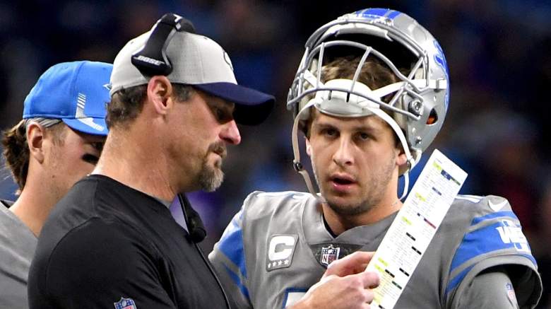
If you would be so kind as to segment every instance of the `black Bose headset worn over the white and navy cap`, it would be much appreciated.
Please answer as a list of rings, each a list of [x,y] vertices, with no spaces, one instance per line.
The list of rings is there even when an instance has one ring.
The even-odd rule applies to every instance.
[[[146,45],[132,54],[132,64],[146,76],[170,74],[172,64],[167,57],[166,50],[174,34],[179,31],[195,33],[195,27],[191,21],[177,14],[166,13],[163,15],[153,25]]]

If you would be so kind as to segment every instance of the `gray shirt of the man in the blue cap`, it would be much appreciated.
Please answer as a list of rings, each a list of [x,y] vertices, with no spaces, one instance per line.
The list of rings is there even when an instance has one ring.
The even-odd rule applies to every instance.
[[[0,203],[0,308],[28,308],[27,278],[36,236]]]

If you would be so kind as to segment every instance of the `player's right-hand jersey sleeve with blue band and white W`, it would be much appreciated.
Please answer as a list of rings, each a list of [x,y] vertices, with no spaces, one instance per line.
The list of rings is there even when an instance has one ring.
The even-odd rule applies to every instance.
[[[519,308],[535,308],[543,287],[538,264],[522,232],[519,218],[511,210],[509,202],[502,197],[486,197],[478,206],[482,211],[470,221],[451,260],[449,281],[444,293],[446,308],[509,308],[499,305],[458,306],[458,303],[466,301],[463,296],[487,293],[490,297],[503,291],[503,285],[507,284],[503,280],[495,283],[498,286],[478,284],[488,276],[492,279],[499,277],[488,275],[489,269],[502,269],[506,273],[510,279],[509,287],[516,293]],[[481,288],[472,290],[473,286]]]

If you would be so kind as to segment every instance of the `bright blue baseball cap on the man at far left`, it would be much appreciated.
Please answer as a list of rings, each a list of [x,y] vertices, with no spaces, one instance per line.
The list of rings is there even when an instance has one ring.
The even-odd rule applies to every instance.
[[[112,64],[62,62],[47,69],[25,98],[23,119],[61,119],[78,132],[107,135]]]

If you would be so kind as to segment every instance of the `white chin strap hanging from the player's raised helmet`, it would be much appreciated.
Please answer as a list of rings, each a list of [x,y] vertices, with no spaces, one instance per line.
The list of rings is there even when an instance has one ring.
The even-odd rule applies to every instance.
[[[342,81],[342,80],[340,80],[340,81]],[[328,83],[330,83],[330,82],[331,81],[329,81]],[[350,81],[350,83],[351,82],[352,81]],[[367,87],[367,86],[365,86],[362,83],[359,83],[357,81],[356,81],[356,84],[360,84],[363,87]],[[321,83],[321,81],[319,81],[319,86],[322,86],[322,87],[324,86]],[[341,91],[335,91],[335,94],[337,94],[339,92],[341,92]],[[366,96],[369,97],[371,95],[367,94]],[[338,98],[339,95],[333,95],[333,97],[336,98],[336,99],[333,99],[333,100],[340,100]],[[350,98],[350,96],[348,96],[348,98]],[[300,175],[302,175],[302,177],[304,178],[304,182],[306,183],[306,186],[307,186],[309,192],[314,197],[316,197],[316,199],[318,199],[319,202],[322,202],[322,203],[326,202],[326,199],[324,199],[324,197],[322,197],[320,193],[318,193],[314,190],[314,185],[312,184],[312,178],[310,177],[308,171],[304,169],[304,166],[300,162],[300,148],[299,148],[299,144],[298,144],[298,125],[299,125],[300,119],[302,118],[303,113],[309,112],[310,107],[315,106],[321,112],[324,112],[324,109],[322,108],[324,103],[331,103],[331,99],[328,100],[327,98],[321,98],[321,96],[318,95],[318,93],[316,93],[316,98],[313,98],[312,100],[309,100],[309,102],[306,105],[304,105],[304,107],[302,107],[302,109],[297,113],[297,115],[295,117],[295,121],[293,122],[292,137],[291,137],[292,138],[292,151],[293,151],[293,154],[295,156],[295,158],[293,160],[293,168],[295,168],[297,173],[300,173]],[[400,143],[402,144],[402,148],[403,148],[405,158],[406,158],[407,164],[408,164],[408,169],[405,170],[405,172],[403,173],[404,188],[403,188],[403,192],[402,192],[401,197],[400,197],[400,199],[404,199],[405,196],[408,194],[409,171],[418,163],[418,161],[420,160],[420,157],[421,157],[420,156],[421,153],[419,153],[417,151],[417,153],[416,153],[417,156],[414,157],[414,156],[411,155],[410,148],[408,146],[407,141],[405,140],[405,136],[404,136],[401,128],[398,126],[396,121],[389,114],[387,114],[386,112],[384,112],[383,110],[381,110],[379,108],[379,105],[377,105],[377,107],[375,107],[374,105],[369,105],[369,101],[365,102],[365,100],[363,102],[358,102],[355,105],[356,105],[356,107],[362,107],[362,109],[368,110],[371,114],[377,115],[378,117],[383,119],[386,123],[388,123],[391,126],[393,131],[398,136],[398,139],[400,140]],[[333,116],[336,116],[336,117],[350,117],[351,116],[351,115],[336,115],[336,114],[333,114],[331,112],[328,112],[328,115],[333,115]],[[367,115],[370,115],[370,114],[366,113],[365,116],[367,116]],[[362,116],[354,115],[354,117],[362,117]]]

